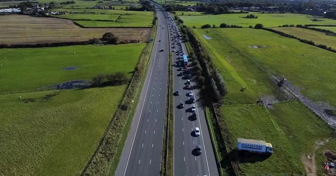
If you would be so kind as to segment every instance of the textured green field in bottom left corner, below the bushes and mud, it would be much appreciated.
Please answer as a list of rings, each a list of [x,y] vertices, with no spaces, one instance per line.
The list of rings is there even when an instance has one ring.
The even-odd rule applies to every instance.
[[[125,88],[0,95],[0,175],[80,175]]]

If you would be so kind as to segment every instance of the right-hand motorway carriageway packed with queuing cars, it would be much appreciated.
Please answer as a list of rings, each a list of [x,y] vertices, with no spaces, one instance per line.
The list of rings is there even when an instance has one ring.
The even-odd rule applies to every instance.
[[[204,109],[201,102],[196,80],[192,74],[191,61],[188,61],[188,68],[184,69],[182,55],[188,56],[185,44],[183,43],[178,26],[173,20],[168,19],[170,33],[170,48],[174,53],[174,91],[180,95],[174,97],[174,175],[175,176],[218,176],[215,156],[210,140],[209,130],[206,123]],[[179,42],[181,41],[181,43]],[[180,45],[179,45],[180,44]],[[181,63],[181,66],[179,66]],[[181,68],[180,68],[181,67]],[[189,73],[187,72],[190,69]],[[191,80],[190,89],[186,89],[186,81]],[[192,119],[192,102],[188,92],[192,91],[195,97],[195,113],[197,119]],[[179,104],[183,103],[184,108]],[[195,135],[195,127],[200,128],[201,134]],[[202,153],[196,154],[196,145],[201,145]]]

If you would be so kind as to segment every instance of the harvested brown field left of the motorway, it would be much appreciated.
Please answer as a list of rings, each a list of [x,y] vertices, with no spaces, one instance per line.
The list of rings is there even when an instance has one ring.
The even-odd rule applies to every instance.
[[[87,41],[111,32],[120,40],[148,40],[150,28],[81,28],[71,20],[27,15],[0,18],[0,44]]]

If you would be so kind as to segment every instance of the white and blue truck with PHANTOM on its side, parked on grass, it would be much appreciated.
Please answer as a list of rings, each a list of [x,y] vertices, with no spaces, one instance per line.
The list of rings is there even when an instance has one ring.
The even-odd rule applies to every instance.
[[[263,140],[238,138],[237,148],[241,151],[249,151],[268,155],[273,153],[272,144]]]

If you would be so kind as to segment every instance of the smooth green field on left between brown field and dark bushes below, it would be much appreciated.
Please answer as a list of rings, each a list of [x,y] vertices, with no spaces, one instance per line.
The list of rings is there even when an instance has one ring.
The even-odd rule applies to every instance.
[[[144,43],[138,43],[1,49],[0,79],[3,84],[0,85],[0,93],[34,91],[65,81],[91,79],[100,73],[129,73],[134,70],[144,46]],[[63,70],[71,66],[77,69]]]

